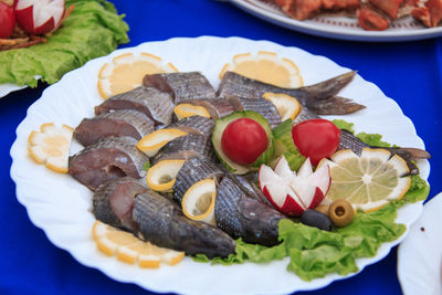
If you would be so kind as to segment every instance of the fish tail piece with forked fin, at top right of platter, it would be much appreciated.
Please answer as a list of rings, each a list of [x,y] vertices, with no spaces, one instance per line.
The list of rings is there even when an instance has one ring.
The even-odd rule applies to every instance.
[[[262,98],[266,92],[284,93],[296,97],[303,106],[312,108],[319,115],[344,115],[355,113],[365,106],[350,99],[335,96],[356,75],[356,72],[299,88],[282,88],[256,80],[248,78],[234,72],[227,72],[218,88],[218,96],[239,96],[244,98]]]

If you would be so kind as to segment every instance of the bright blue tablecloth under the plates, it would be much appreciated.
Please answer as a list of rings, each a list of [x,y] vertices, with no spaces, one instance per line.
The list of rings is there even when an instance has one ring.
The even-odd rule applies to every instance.
[[[358,70],[367,81],[393,98],[414,123],[432,154],[430,198],[442,191],[442,39],[402,43],[360,43],[311,36],[256,19],[228,2],[210,0],[114,0],[125,13],[134,46],[173,36],[243,36],[270,40],[324,55]],[[0,294],[146,294],[133,284],[117,283],[76,262],[55,247],[30,221],[15,199],[10,178],[9,149],[28,107],[46,85],[23,89],[0,99]],[[32,173],[32,171],[30,171]],[[191,274],[189,274],[191,275]],[[222,280],[222,278],[220,278]],[[203,283],[203,282],[201,282]],[[229,282],[227,282],[229,283]],[[358,275],[332,283],[312,294],[401,294],[397,276],[397,247]]]

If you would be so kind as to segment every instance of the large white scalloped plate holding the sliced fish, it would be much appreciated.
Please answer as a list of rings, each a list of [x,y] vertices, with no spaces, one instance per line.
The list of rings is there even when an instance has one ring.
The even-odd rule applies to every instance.
[[[162,57],[164,61],[171,62],[179,71],[201,71],[217,87],[219,72],[233,55],[260,50],[273,51],[278,56],[294,61],[306,84],[349,71],[326,57],[269,41],[202,36],[148,42],[136,48],[118,50],[107,56],[90,61],[48,87],[42,97],[28,109],[28,116],[17,128],[17,140],[11,148],[13,159],[11,177],[17,183],[17,197],[28,209],[31,221],[44,230],[52,243],[69,251],[82,264],[98,268],[116,281],[135,283],[154,292],[286,294],[319,288],[335,280],[354,275],[330,274],[312,282],[304,282],[286,271],[287,259],[264,265],[244,263],[223,266],[196,263],[186,257],[177,266],[161,266],[159,270],[140,270],[137,266],[126,265],[96,250],[91,236],[94,222],[94,217],[90,212],[91,191],[67,175],[59,175],[36,165],[28,155],[28,136],[31,130],[39,129],[41,124],[54,122],[77,126],[82,118],[93,116],[93,107],[102,103],[96,88],[98,70],[116,55],[126,52],[149,52]],[[372,83],[357,75],[340,94],[367,106],[365,110],[345,117],[355,123],[357,131],[379,133],[387,141],[424,148],[411,120]],[[429,162],[422,161],[419,166],[422,177],[427,179],[430,171]],[[399,210],[397,221],[409,228],[421,211],[422,202],[407,204]],[[382,244],[375,257],[359,259],[357,261],[359,270],[385,257],[404,236],[406,234],[397,241]],[[220,277],[223,280],[219,280]]]

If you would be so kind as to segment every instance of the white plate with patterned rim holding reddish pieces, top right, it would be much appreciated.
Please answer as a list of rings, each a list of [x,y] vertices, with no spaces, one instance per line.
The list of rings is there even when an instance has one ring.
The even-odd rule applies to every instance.
[[[302,33],[352,41],[411,41],[442,35],[442,27],[425,28],[413,18],[396,20],[388,30],[381,32],[365,31],[356,19],[318,17],[297,21],[284,14],[276,6],[260,0],[228,0],[236,7],[265,21]]]

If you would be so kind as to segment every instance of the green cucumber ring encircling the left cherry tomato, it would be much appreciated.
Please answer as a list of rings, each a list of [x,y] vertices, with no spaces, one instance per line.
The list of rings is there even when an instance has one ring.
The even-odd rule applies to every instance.
[[[223,151],[221,147],[221,138],[222,133],[224,131],[225,127],[233,120],[239,118],[251,118],[257,122],[265,130],[267,135],[267,149],[261,154],[256,161],[254,161],[250,166],[244,166],[232,161]],[[274,140],[272,135],[272,129],[270,128],[269,122],[260,114],[253,110],[239,110],[232,113],[228,116],[219,118],[215,120],[213,131],[212,131],[212,144],[217,157],[220,161],[225,166],[225,168],[236,175],[244,175],[252,170],[257,170],[262,164],[267,164],[270,160],[273,159],[274,154]]]

